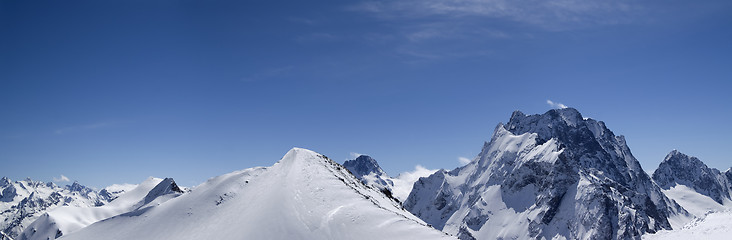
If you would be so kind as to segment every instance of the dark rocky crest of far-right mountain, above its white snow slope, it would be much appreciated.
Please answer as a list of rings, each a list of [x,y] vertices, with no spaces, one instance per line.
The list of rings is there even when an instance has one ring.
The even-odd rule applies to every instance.
[[[666,155],[653,172],[653,180],[666,190],[684,185],[720,204],[730,199],[730,179],[725,173],[677,150]]]

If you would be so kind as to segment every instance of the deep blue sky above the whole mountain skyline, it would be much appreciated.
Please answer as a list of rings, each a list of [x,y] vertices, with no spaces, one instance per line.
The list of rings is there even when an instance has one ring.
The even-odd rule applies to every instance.
[[[0,175],[197,185],[292,147],[392,175],[547,100],[732,167],[730,1],[0,1]]]

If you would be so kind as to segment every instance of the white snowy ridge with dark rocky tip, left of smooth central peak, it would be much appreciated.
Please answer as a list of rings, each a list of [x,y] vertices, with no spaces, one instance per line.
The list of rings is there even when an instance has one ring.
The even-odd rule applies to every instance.
[[[181,195],[183,189],[172,178],[148,178],[118,195],[104,206],[63,206],[53,209],[31,223],[17,240],[48,240],[78,231],[95,222],[154,206]]]

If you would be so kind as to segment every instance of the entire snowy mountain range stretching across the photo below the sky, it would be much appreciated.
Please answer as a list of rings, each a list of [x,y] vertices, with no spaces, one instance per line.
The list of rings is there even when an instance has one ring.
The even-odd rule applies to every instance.
[[[674,150],[649,176],[623,136],[572,108],[514,112],[473,161],[453,170],[390,177],[367,155],[340,165],[294,148],[271,167],[191,189],[171,178],[100,191],[7,178],[0,187],[0,227],[24,240],[675,239],[732,231],[732,170]]]

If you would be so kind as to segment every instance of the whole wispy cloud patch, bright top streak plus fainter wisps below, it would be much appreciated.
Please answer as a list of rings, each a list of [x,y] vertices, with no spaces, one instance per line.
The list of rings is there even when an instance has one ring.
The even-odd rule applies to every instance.
[[[645,9],[632,0],[367,0],[346,8],[382,24],[396,36],[394,53],[418,63],[485,57],[503,41],[545,32],[640,22]]]

